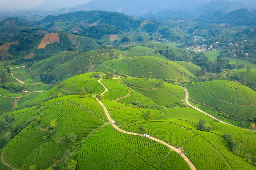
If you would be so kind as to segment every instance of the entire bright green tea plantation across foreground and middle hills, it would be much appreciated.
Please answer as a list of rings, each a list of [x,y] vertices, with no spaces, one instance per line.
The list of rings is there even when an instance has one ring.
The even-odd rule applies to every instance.
[[[82,42],[77,38],[72,43]],[[17,83],[19,92],[0,89],[0,170],[66,170],[72,163],[79,170],[255,169],[256,131],[214,120],[190,104],[253,126],[256,92],[227,80],[189,84],[201,67],[165,60],[152,45],[170,48],[67,51],[31,71],[13,69],[28,80]],[[57,78],[32,82],[31,74],[42,72]]]

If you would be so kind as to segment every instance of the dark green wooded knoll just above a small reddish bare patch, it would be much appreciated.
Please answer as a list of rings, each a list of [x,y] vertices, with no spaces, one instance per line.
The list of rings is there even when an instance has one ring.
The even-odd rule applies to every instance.
[[[119,31],[115,26],[102,25],[102,26],[91,26],[84,29],[82,35],[100,39],[103,34],[118,34]]]

